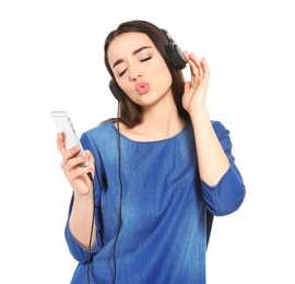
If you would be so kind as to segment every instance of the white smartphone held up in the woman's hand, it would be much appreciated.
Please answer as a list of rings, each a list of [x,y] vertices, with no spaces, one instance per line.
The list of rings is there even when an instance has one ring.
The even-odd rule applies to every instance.
[[[80,152],[76,154],[76,156],[85,155],[69,114],[66,110],[52,110],[51,115],[57,126],[58,132],[63,133],[66,149],[69,150],[75,145],[79,145]],[[81,165],[87,166],[88,163],[85,162]]]

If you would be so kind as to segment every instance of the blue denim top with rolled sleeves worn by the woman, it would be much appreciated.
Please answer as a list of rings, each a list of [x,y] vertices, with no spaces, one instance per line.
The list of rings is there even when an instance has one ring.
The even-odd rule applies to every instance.
[[[82,134],[81,143],[93,153],[96,167],[97,237],[91,252],[91,283],[113,283],[115,264],[118,284],[205,283],[213,216],[235,212],[245,198],[229,132],[219,121],[212,125],[231,162],[214,187],[200,179],[190,121],[180,133],[161,141],[138,142],[120,134],[121,180],[118,131],[113,122]],[[69,223],[66,239],[78,261],[71,283],[87,283],[88,251],[74,239]]]

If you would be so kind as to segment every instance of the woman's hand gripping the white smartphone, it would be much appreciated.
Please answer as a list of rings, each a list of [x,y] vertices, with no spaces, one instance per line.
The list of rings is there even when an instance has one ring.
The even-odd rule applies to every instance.
[[[69,180],[75,194],[86,197],[92,194],[93,185],[88,177],[88,173],[94,176],[94,157],[88,150],[85,150],[84,156],[75,156],[80,149],[74,146],[67,150],[64,146],[64,138],[62,133],[57,134],[57,149],[62,155],[61,169]],[[88,165],[81,166],[82,163],[87,162]]]

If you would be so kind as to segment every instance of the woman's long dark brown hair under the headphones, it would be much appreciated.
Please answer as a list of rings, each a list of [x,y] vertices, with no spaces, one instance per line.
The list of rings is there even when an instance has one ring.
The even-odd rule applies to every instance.
[[[174,68],[172,61],[168,58],[168,55],[166,52],[166,46],[169,44],[166,35],[164,34],[163,29],[158,28],[154,24],[146,22],[146,21],[141,21],[141,20],[133,20],[129,22],[123,22],[114,31],[111,31],[108,36],[105,39],[105,66],[108,71],[108,73],[111,76],[111,82],[116,84],[116,88],[120,92],[120,97],[123,99],[119,100],[119,114],[118,118],[116,119],[109,119],[109,120],[119,120],[123,122],[128,128],[133,128],[137,125],[141,123],[142,121],[142,109],[141,107],[133,103],[125,93],[119,87],[119,85],[116,83],[113,70],[109,66],[108,62],[108,57],[107,57],[107,50],[109,47],[109,44],[120,34],[128,33],[128,32],[139,32],[139,33],[144,33],[146,34],[153,44],[155,45],[156,49],[165,60],[172,78],[173,78],[173,83],[172,83],[172,91],[173,91],[173,96],[174,96],[174,102],[176,104],[178,114],[180,117],[187,119],[189,117],[187,110],[182,107],[181,98],[184,94],[184,73],[181,70],[177,70]]]

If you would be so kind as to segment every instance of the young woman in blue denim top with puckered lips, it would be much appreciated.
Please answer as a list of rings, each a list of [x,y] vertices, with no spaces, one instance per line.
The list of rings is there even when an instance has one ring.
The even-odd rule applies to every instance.
[[[57,138],[73,189],[71,283],[203,284],[213,216],[245,198],[229,132],[205,106],[209,66],[146,21],[109,33],[105,64],[117,118],[82,134],[85,156]]]

